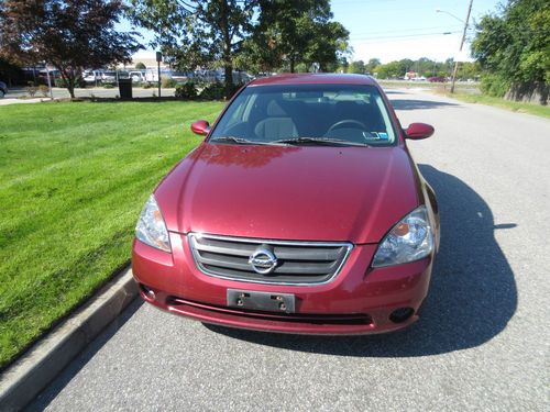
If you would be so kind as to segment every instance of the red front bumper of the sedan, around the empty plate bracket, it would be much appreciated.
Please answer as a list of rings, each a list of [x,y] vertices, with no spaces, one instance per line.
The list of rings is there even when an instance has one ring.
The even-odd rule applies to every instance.
[[[141,296],[162,310],[231,327],[296,334],[353,335],[404,329],[418,320],[428,293],[433,256],[371,268],[377,245],[355,245],[330,282],[262,285],[220,279],[200,271],[188,237],[170,233],[168,254],[134,241],[132,269]],[[229,308],[228,289],[292,293],[295,313]],[[396,310],[408,314],[395,316]],[[392,315],[394,313],[394,315]],[[397,319],[397,321],[396,321]]]

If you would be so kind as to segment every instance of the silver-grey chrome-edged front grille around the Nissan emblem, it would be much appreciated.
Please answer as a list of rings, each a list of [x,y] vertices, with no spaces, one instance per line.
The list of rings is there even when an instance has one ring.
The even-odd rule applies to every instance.
[[[197,267],[206,275],[255,283],[324,283],[338,275],[351,243],[286,242],[215,235],[189,235]],[[249,259],[258,249],[276,257],[268,274],[258,274]]]

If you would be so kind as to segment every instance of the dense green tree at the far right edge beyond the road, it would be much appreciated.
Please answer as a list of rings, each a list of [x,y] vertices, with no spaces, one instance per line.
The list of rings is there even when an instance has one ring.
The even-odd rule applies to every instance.
[[[550,83],[550,8],[547,0],[510,0],[476,26],[472,54],[485,77],[501,83]]]

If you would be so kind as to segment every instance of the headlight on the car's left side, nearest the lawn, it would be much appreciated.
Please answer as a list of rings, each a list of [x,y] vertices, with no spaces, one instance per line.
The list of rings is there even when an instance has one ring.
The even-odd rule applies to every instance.
[[[135,226],[135,237],[157,249],[172,252],[168,231],[153,194],[151,194],[141,212]]]

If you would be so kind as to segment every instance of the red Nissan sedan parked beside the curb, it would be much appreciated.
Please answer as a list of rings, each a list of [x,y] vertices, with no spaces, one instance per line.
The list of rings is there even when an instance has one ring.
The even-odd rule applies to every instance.
[[[418,320],[439,244],[436,196],[367,76],[244,87],[142,211],[132,268],[151,304],[201,322],[367,334]]]

